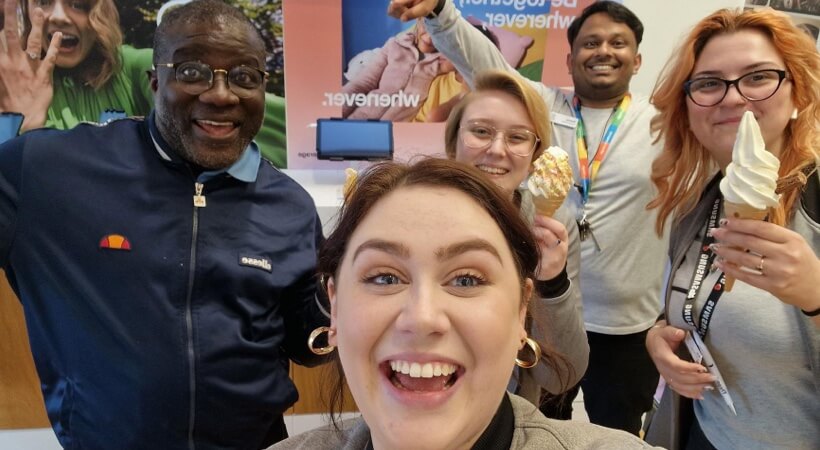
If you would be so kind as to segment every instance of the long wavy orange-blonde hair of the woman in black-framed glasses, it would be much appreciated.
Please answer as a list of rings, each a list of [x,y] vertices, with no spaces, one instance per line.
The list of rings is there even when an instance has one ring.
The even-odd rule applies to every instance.
[[[703,188],[714,174],[709,152],[692,134],[683,84],[692,75],[695,62],[715,36],[757,30],[765,34],[783,58],[792,83],[792,101],[799,111],[784,130],[780,153],[780,176],[816,162],[820,147],[820,55],[806,33],[783,13],[768,8],[721,9],[701,20],[667,62],[652,93],[658,114],[652,131],[664,140],[663,151],[652,164],[652,182],[658,195],[647,205],[658,208],[655,231],[662,233],[669,217],[679,220],[692,211]],[[790,221],[800,190],[785,192],[776,208],[769,210],[771,222]]]

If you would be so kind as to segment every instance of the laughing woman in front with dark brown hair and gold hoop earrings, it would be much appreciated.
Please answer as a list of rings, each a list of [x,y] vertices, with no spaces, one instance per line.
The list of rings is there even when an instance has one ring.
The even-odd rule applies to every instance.
[[[320,252],[331,323],[309,341],[338,349],[362,417],[273,448],[645,448],[505,392],[513,366],[542,353],[525,329],[537,265],[529,226],[475,168],[431,158],[368,169]]]

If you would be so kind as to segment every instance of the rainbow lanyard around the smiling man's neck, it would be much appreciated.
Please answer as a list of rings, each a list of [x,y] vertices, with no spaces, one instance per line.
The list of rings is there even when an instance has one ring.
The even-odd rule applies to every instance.
[[[575,127],[575,141],[578,147],[578,161],[581,170],[581,195],[584,197],[584,204],[589,200],[589,191],[592,188],[592,180],[598,175],[598,168],[601,167],[601,162],[606,156],[609,145],[615,137],[615,132],[626,116],[626,110],[632,102],[632,95],[627,93],[623,99],[618,103],[618,106],[609,117],[609,123],[606,126],[604,137],[601,138],[601,143],[598,144],[598,151],[595,153],[595,159],[592,161],[592,173],[590,174],[589,164],[589,150],[587,149],[587,132],[584,127],[584,118],[581,117],[581,99],[576,95],[572,101],[572,110],[575,113],[575,118],[578,119],[578,125]]]

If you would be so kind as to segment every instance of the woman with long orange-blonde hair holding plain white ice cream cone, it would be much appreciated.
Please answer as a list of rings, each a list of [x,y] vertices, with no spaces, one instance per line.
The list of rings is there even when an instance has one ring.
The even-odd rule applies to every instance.
[[[653,129],[665,144],[649,207],[658,209],[657,231],[671,221],[672,234],[666,317],[647,348],[667,386],[696,399],[687,448],[813,448],[820,56],[787,16],[768,9],[717,11],[674,55],[653,94]],[[719,181],[747,112],[780,163],[767,221],[723,212]],[[738,280],[728,292],[726,277]],[[713,367],[681,359],[684,340]]]

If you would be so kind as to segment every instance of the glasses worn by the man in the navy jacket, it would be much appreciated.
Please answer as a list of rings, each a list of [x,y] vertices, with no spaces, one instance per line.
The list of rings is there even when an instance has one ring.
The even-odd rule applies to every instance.
[[[199,95],[214,85],[216,73],[223,73],[228,89],[237,97],[248,98],[258,92],[260,86],[268,79],[268,73],[251,66],[233,66],[230,69],[213,69],[199,61],[154,64],[157,67],[174,69],[174,76],[182,90],[191,95]]]

